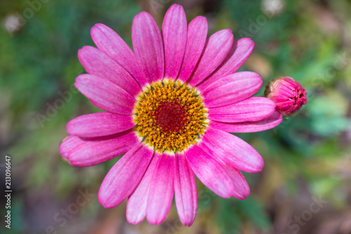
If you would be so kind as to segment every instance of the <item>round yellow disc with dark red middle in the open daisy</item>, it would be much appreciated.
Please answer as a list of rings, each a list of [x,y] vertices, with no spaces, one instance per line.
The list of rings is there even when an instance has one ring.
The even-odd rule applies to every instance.
[[[181,152],[204,134],[207,110],[195,88],[171,79],[147,86],[134,107],[135,131],[158,152]]]

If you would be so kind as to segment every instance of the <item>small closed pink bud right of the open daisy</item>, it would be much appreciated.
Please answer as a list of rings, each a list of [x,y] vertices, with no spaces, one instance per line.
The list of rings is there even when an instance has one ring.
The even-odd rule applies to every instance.
[[[277,104],[283,117],[291,117],[307,103],[306,90],[291,77],[278,77],[265,86],[265,97]]]

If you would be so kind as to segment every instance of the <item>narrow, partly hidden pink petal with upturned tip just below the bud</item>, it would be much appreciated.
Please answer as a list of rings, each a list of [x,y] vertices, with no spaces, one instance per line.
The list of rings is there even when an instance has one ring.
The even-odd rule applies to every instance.
[[[220,129],[227,132],[246,133],[272,129],[274,126],[278,126],[282,120],[282,114],[275,110],[272,115],[257,122],[223,123],[211,121],[210,126],[214,129]]]

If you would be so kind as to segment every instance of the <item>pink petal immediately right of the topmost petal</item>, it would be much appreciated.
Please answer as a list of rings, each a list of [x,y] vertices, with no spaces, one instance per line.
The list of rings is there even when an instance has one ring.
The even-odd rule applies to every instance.
[[[208,25],[204,16],[197,16],[187,27],[187,46],[185,48],[183,65],[178,76],[178,79],[183,82],[189,79],[199,61],[202,51],[204,51],[207,31]]]

